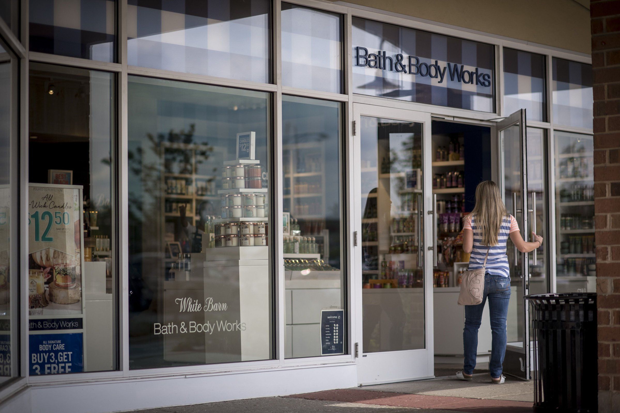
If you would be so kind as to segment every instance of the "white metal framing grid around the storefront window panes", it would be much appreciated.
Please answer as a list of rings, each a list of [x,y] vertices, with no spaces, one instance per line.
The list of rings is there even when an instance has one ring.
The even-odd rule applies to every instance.
[[[357,6],[348,4],[345,2],[328,2],[321,0],[288,0],[286,2],[296,4],[299,6],[313,7],[316,9],[322,9],[324,11],[336,12],[343,15],[343,93],[330,93],[319,92],[314,90],[305,90],[300,88],[283,87],[281,85],[281,0],[272,0],[272,81],[273,83],[257,83],[248,82],[244,80],[223,79],[219,77],[212,77],[206,75],[195,75],[180,72],[171,72],[169,70],[149,69],[144,67],[129,66],[127,61],[127,1],[118,0],[117,4],[117,54],[118,62],[98,62],[88,59],[79,59],[74,57],[56,56],[52,54],[43,53],[29,53],[28,50],[28,30],[29,30],[29,2],[27,0],[21,3],[21,37],[20,43],[12,32],[0,22],[0,35],[9,42],[9,45],[14,49],[20,59],[20,156],[23,161],[20,164],[20,205],[27,205],[27,185],[28,185],[28,80],[29,80],[29,62],[46,62],[50,64],[61,64],[66,66],[82,67],[86,69],[105,70],[117,74],[117,93],[116,93],[116,108],[117,108],[117,148],[115,153],[120,155],[117,163],[117,199],[118,199],[118,228],[120,233],[117,236],[117,274],[118,274],[118,289],[117,297],[115,299],[118,302],[117,313],[117,334],[118,334],[118,367],[119,370],[112,372],[91,372],[91,373],[74,373],[66,375],[50,375],[50,376],[38,376],[30,377],[29,370],[29,354],[28,354],[28,330],[27,330],[27,276],[25,276],[25,268],[27,268],[27,256],[22,254],[20,257],[20,265],[22,267],[22,279],[21,279],[21,317],[22,328],[20,330],[20,338],[22,346],[20,348],[21,354],[21,366],[22,366],[22,378],[17,381],[20,386],[25,384],[32,385],[69,385],[72,383],[86,383],[92,381],[109,381],[109,380],[122,380],[131,379],[136,380],[139,378],[154,378],[154,377],[175,377],[179,375],[220,375],[227,373],[241,373],[241,372],[257,372],[260,370],[273,370],[273,369],[288,369],[288,368],[307,368],[307,367],[322,367],[322,366],[335,366],[335,365],[348,365],[355,364],[355,343],[353,338],[355,332],[353,328],[355,326],[355,318],[361,317],[353,313],[355,306],[355,291],[353,291],[354,283],[350,281],[351,271],[354,268],[353,263],[353,251],[352,248],[347,248],[345,254],[346,268],[349,269],[347,275],[347,282],[342,286],[346,289],[345,296],[348,297],[346,302],[347,309],[347,348],[349,354],[342,356],[325,356],[325,357],[306,357],[301,359],[285,359],[284,357],[284,342],[285,342],[285,291],[284,291],[284,274],[283,274],[283,258],[282,258],[282,179],[280,171],[282,167],[282,126],[281,126],[281,101],[282,95],[297,95],[306,96],[311,98],[319,98],[324,100],[339,101],[343,103],[343,117],[345,122],[345,128],[343,129],[343,153],[345,160],[348,163],[348,173],[345,175],[346,181],[343,182],[343,199],[345,199],[345,205],[347,206],[347,223],[344,228],[348,229],[348,232],[344,234],[345,245],[353,245],[353,205],[355,203],[355,194],[353,194],[353,135],[352,135],[352,118],[353,118],[353,103],[366,103],[374,104],[378,106],[389,106],[392,108],[411,109],[414,111],[423,111],[430,113],[433,117],[448,119],[451,121],[462,121],[474,124],[485,124],[489,126],[494,125],[494,121],[498,117],[506,116],[503,111],[503,48],[508,47],[511,49],[519,49],[528,51],[531,53],[538,53],[546,56],[547,64],[547,122],[534,122],[529,121],[528,126],[538,127],[546,130],[548,148],[552,148],[554,145],[554,130],[565,130],[569,132],[578,132],[582,134],[593,134],[591,129],[580,129],[558,126],[553,122],[552,113],[552,69],[551,62],[553,57],[559,57],[561,59],[567,59],[570,61],[577,61],[586,64],[591,64],[591,57],[582,53],[575,53],[559,48],[552,48],[549,46],[538,45],[526,41],[506,38],[499,35],[492,35],[489,33],[477,32],[475,30],[469,30],[466,28],[454,27],[453,25],[447,25],[443,23],[431,22],[430,20],[417,19],[407,15],[396,14],[392,12],[379,11],[378,9],[372,9],[370,7]],[[443,106],[435,106],[431,104],[412,103],[401,100],[393,100],[388,98],[378,98],[374,96],[357,95],[352,92],[352,17],[361,17],[364,19],[378,20],[381,22],[391,23],[403,27],[414,28],[418,30],[426,30],[428,32],[438,32],[444,35],[455,36],[466,40],[479,41],[494,45],[495,48],[495,112],[485,113],[478,111],[469,111],[466,109],[447,108]],[[153,368],[144,370],[130,370],[129,368],[129,305],[128,305],[128,249],[125,247],[128,244],[128,162],[127,162],[127,148],[128,148],[128,114],[127,114],[127,80],[129,75],[143,75],[149,77],[157,77],[161,79],[170,80],[182,80],[187,82],[203,83],[207,85],[219,85],[225,87],[237,87],[246,88],[250,90],[260,90],[273,94],[273,151],[275,158],[273,159],[273,168],[275,168],[275,182],[272,182],[272,190],[275,192],[275,205],[273,206],[273,225],[277,228],[277,232],[274,232],[273,249],[275,249],[274,256],[275,262],[272,263],[273,273],[276,280],[274,291],[275,300],[273,302],[273,311],[275,312],[275,325],[273,330],[275,331],[275,343],[274,354],[275,359],[263,360],[254,362],[237,362],[229,364],[210,364],[210,365],[195,365],[189,367],[166,367],[166,368]],[[552,151],[547,150],[548,160],[547,165],[552,165]],[[554,177],[552,174],[548,176],[548,188],[554,187]],[[553,191],[549,191],[549,203],[554,205],[555,195]],[[552,289],[555,289],[555,219],[554,209],[550,209],[550,236],[549,236],[549,252],[550,252],[550,275]],[[27,221],[22,217],[21,227],[19,229],[21,239],[19,240],[19,247],[21,251],[27,250]],[[15,385],[6,386],[0,390],[0,401],[6,398],[15,391]]]

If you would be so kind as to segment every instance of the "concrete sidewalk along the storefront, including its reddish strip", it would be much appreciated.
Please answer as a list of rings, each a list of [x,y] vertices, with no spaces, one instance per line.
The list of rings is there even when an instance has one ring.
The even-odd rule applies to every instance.
[[[532,412],[533,383],[507,378],[503,385],[490,383],[488,374],[474,375],[473,381],[456,378],[407,381],[388,385],[364,386],[294,394],[284,397],[224,401],[193,406],[163,407],[141,413],[318,413],[377,412],[424,413]]]

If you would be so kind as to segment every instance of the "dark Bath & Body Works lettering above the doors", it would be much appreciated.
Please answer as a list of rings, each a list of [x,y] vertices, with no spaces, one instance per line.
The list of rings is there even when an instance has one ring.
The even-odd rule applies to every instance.
[[[480,85],[489,87],[491,85],[491,75],[480,73],[476,70],[465,70],[464,65],[448,63],[447,66],[440,66],[438,61],[435,63],[420,62],[417,56],[407,56],[398,53],[394,57],[387,56],[385,51],[379,50],[377,53],[368,53],[368,49],[361,46],[355,48],[355,64],[360,67],[370,67],[371,69],[389,70],[390,72],[409,73],[422,77],[432,77],[439,79],[438,83],[443,83],[446,75],[453,82],[462,82],[469,85]]]

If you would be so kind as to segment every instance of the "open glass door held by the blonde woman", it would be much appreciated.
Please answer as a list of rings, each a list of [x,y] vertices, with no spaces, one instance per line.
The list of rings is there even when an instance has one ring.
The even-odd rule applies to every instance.
[[[525,109],[520,109],[498,122],[497,132],[500,147],[500,190],[508,213],[515,217],[521,236],[528,241],[529,233],[536,231],[536,228],[528,228],[529,222],[535,222],[528,219],[529,213],[535,214],[536,211],[528,210]],[[529,380],[529,316],[524,298],[529,294],[529,257],[527,253],[518,252],[510,239],[507,254],[511,295],[503,373]]]

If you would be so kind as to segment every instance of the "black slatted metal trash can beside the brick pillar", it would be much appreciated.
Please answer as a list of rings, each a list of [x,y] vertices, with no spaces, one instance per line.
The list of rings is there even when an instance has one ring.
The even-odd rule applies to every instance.
[[[597,412],[596,293],[525,298],[532,304],[534,410]]]

